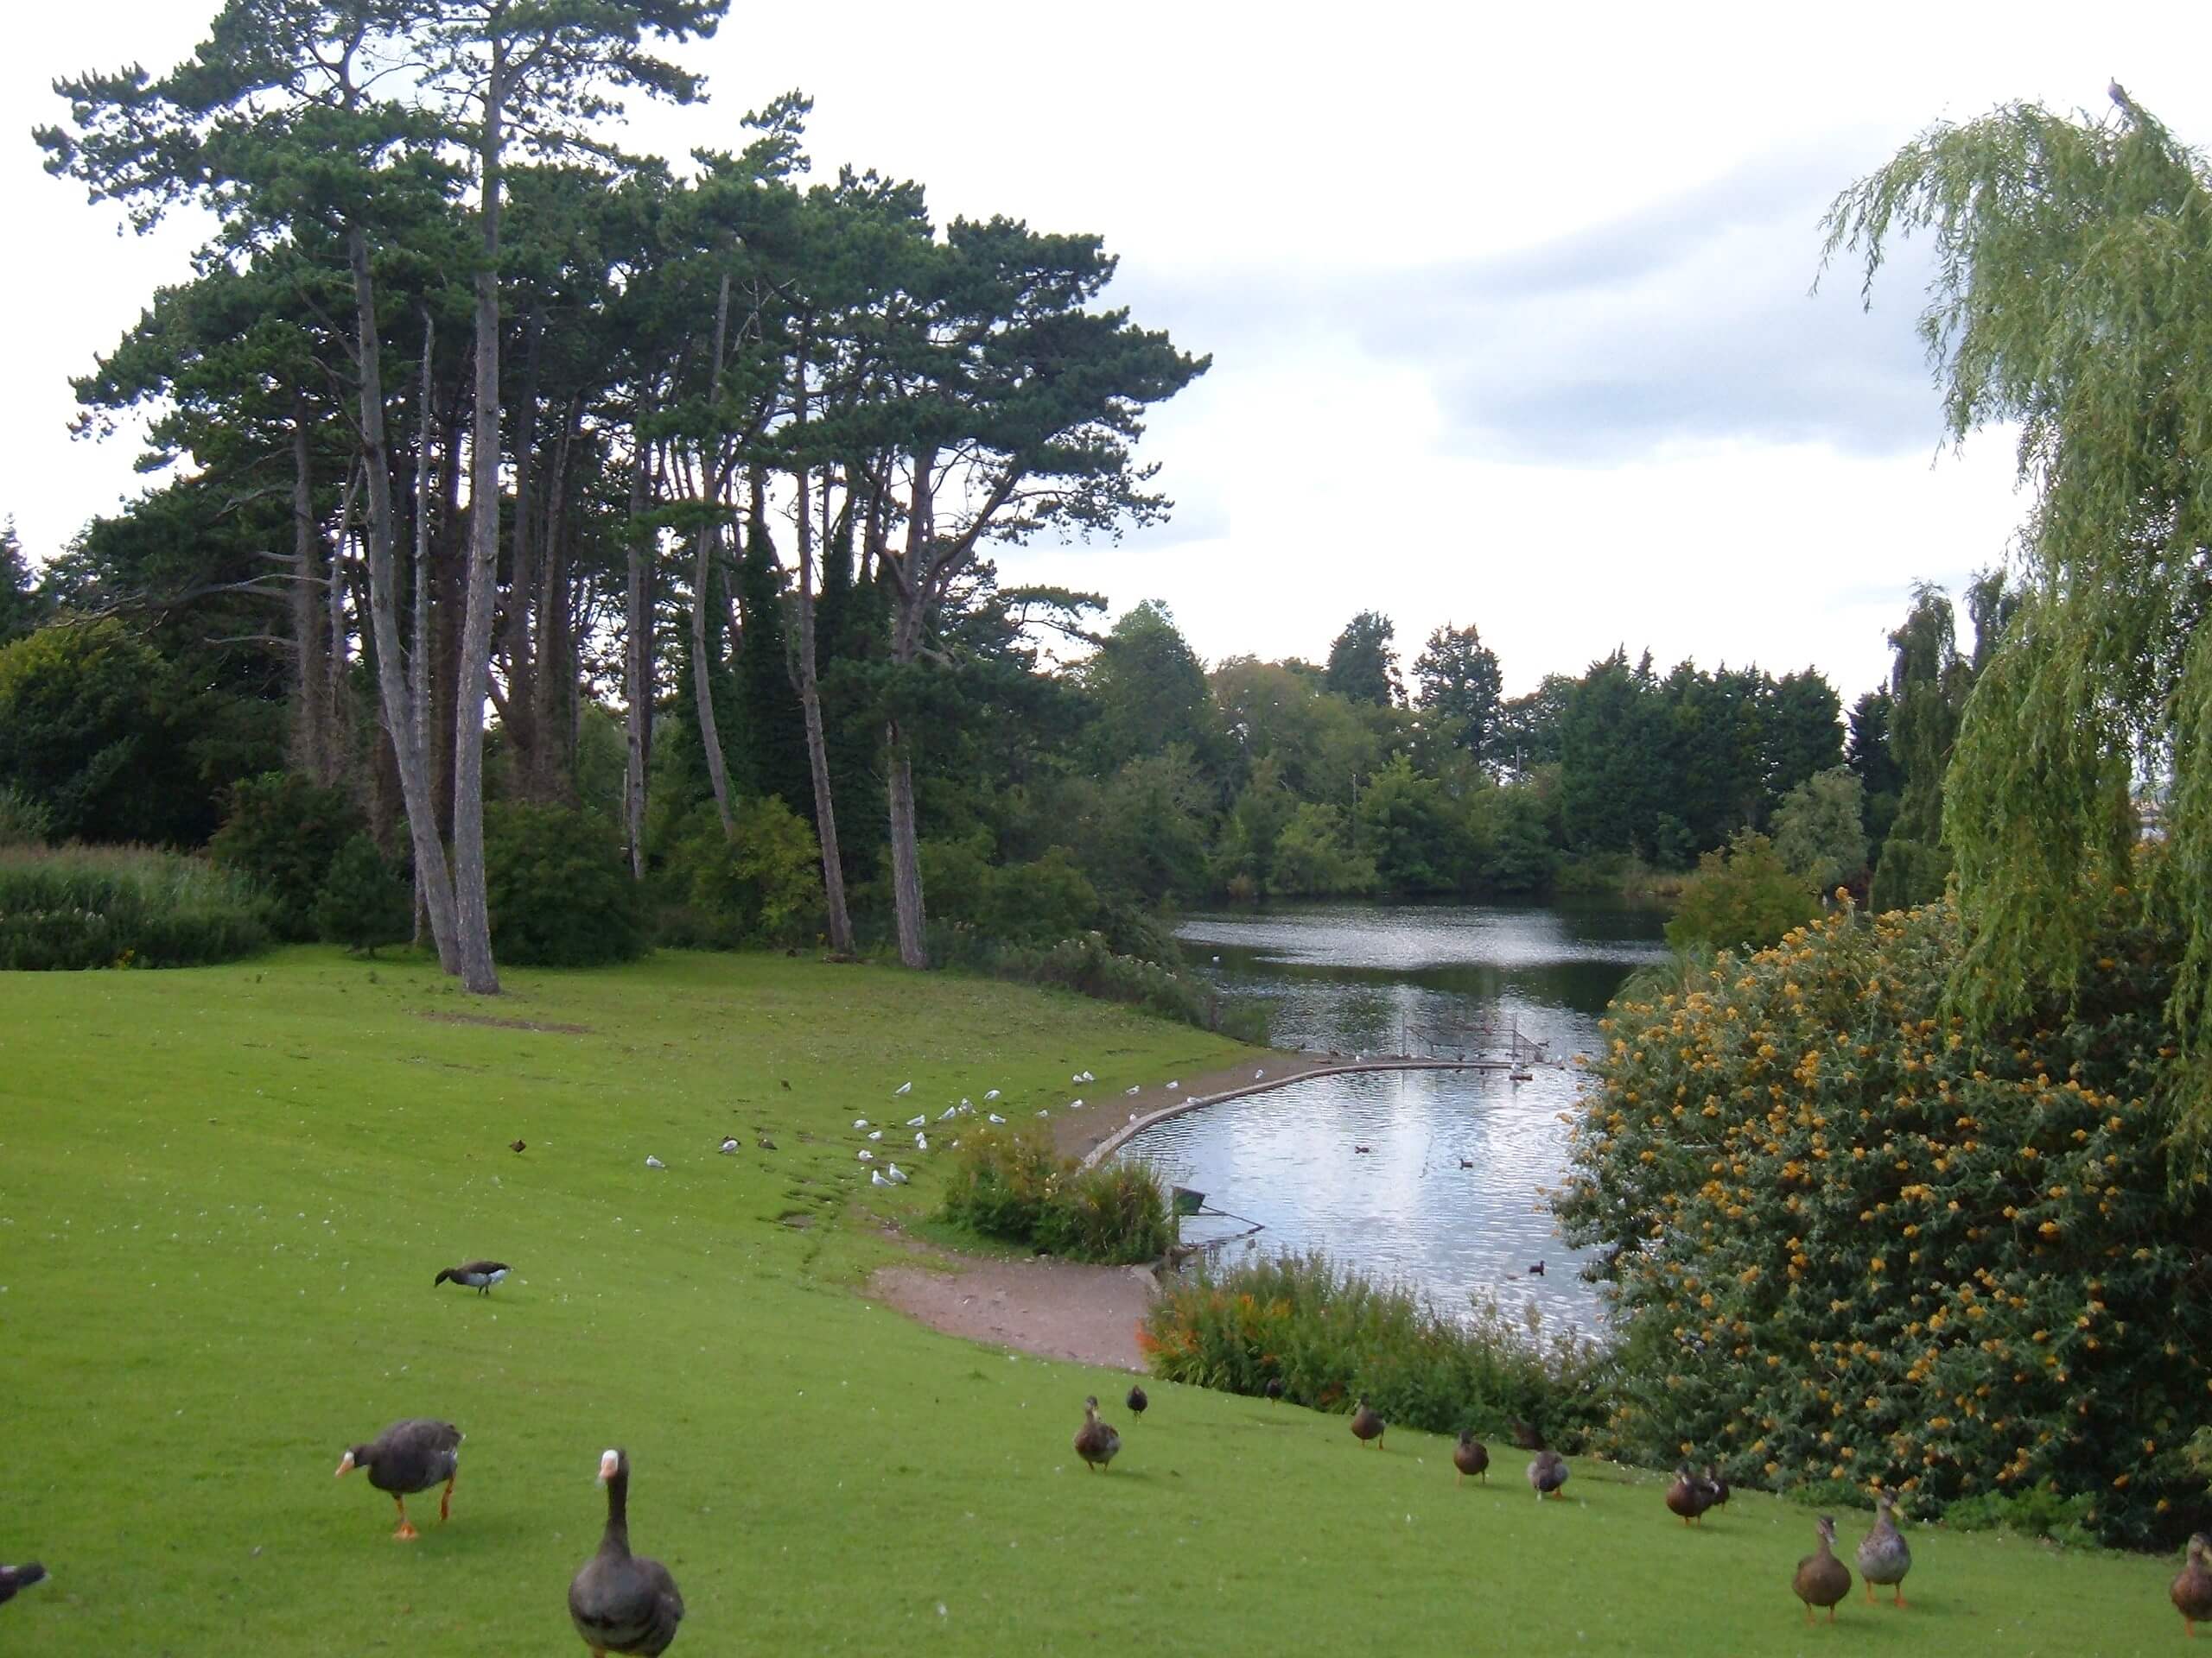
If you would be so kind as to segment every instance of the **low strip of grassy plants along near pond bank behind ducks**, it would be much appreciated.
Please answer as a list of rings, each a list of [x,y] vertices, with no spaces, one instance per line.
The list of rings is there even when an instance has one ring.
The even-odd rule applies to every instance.
[[[1139,1342],[1170,1382],[1349,1410],[1365,1393],[1387,1421],[1431,1433],[1504,1433],[1535,1421],[1579,1448],[1604,1417],[1606,1357],[1573,1331],[1515,1324],[1478,1300],[1464,1320],[1400,1284],[1376,1284],[1321,1253],[1254,1256],[1172,1280]]]

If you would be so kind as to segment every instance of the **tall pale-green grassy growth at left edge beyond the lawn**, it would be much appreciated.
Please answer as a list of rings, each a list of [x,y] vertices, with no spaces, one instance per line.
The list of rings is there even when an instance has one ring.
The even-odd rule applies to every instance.
[[[261,895],[142,847],[0,849],[0,970],[204,966],[268,944]]]

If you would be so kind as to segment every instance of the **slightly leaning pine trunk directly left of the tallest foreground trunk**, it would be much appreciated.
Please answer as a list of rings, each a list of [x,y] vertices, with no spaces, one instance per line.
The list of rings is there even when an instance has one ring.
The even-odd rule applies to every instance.
[[[347,232],[347,256],[354,267],[354,312],[361,349],[361,447],[369,482],[369,628],[376,637],[376,690],[383,701],[385,730],[392,734],[392,758],[400,774],[400,802],[407,811],[407,842],[414,849],[416,880],[422,906],[429,911],[431,942],[447,973],[460,968],[456,948],[458,917],[453,884],[445,869],[445,847],[438,842],[436,800],[425,758],[427,730],[414,723],[407,696],[407,652],[400,650],[398,595],[392,568],[392,458],[385,444],[385,385],[376,343],[376,287],[369,276],[369,237],[358,225]]]

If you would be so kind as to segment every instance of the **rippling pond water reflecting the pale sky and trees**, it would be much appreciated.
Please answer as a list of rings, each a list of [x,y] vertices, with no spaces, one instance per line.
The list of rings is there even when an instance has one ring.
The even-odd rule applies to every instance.
[[[1542,1192],[1566,1169],[1573,1057],[1595,1052],[1621,979],[1666,955],[1657,913],[1314,904],[1192,915],[1179,935],[1223,993],[1267,1001],[1279,1046],[1473,1057],[1517,1032],[1544,1059],[1517,1083],[1502,1070],[1314,1077],[1155,1123],[1124,1156],[1261,1222],[1254,1247],[1325,1249],[1453,1311],[1495,1295],[1515,1315],[1533,1304],[1546,1329],[1601,1324]],[[1237,1229],[1183,1222],[1186,1238]]]

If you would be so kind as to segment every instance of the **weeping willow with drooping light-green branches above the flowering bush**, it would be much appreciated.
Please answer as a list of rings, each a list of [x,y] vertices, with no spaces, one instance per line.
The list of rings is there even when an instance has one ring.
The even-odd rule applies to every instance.
[[[2017,424],[2033,495],[2017,608],[1966,701],[1944,840],[1971,937],[1958,997],[2026,1008],[2090,968],[2093,893],[2179,928],[2177,1074],[2212,1123],[2212,195],[2117,84],[2097,122],[2033,104],[1929,128],[1829,208],[1867,292],[1927,234],[1920,334],[1951,436]],[[2166,794],[2137,860],[2137,789]]]

